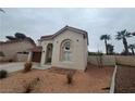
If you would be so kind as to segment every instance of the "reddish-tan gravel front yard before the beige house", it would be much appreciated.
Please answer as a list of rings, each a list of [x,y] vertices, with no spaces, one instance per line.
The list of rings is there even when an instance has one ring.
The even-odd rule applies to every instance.
[[[42,92],[109,92],[111,76],[114,67],[98,68],[88,65],[86,72],[75,71],[73,83],[66,84],[66,72],[50,68],[50,70],[33,70],[28,73],[16,72],[8,78],[0,80],[0,92],[26,92],[27,84],[30,85],[30,91],[34,93]]]

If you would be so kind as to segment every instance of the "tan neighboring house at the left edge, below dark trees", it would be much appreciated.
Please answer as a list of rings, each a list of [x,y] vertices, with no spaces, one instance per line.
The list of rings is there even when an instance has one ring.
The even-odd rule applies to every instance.
[[[0,61],[21,61],[19,58],[24,58],[27,61],[28,49],[36,45],[29,39],[8,40],[0,42]]]

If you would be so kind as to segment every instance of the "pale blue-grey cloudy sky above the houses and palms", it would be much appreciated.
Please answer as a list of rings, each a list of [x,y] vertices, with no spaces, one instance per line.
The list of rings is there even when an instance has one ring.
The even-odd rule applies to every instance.
[[[0,12],[0,40],[16,31],[32,37],[35,41],[44,35],[51,35],[65,25],[88,31],[89,51],[101,50],[105,43],[99,38],[103,34],[111,35],[109,41],[114,51],[123,50],[122,41],[114,39],[116,31],[127,29],[135,31],[135,9],[108,8],[3,8]],[[135,37],[127,39],[135,43]]]

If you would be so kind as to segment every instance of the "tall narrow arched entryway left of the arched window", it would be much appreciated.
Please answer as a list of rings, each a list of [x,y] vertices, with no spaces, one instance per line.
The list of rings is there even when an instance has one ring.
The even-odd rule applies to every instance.
[[[45,64],[51,64],[53,45],[48,43]]]

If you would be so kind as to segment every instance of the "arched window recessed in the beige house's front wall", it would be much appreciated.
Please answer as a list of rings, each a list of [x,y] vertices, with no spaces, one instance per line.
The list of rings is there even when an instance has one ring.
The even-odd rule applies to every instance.
[[[66,39],[61,43],[61,61],[71,61],[72,60],[72,41]]]

